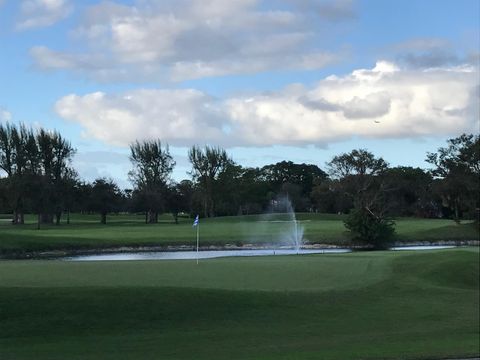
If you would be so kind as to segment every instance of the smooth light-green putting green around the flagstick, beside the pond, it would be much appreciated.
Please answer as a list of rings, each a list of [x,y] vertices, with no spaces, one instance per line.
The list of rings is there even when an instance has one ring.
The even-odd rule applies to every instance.
[[[384,280],[398,252],[200,260],[0,261],[5,287],[189,287],[327,291]]]

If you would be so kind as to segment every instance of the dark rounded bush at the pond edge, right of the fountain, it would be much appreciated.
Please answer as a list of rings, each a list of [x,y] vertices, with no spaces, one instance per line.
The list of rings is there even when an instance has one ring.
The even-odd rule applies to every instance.
[[[375,216],[367,209],[354,209],[344,221],[355,245],[387,249],[395,234],[395,222]]]

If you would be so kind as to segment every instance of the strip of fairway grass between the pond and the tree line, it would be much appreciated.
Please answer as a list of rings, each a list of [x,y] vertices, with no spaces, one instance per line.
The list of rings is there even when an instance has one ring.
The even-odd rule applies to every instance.
[[[297,214],[304,227],[304,238],[309,243],[348,244],[348,233],[343,225],[344,216],[332,214]],[[275,219],[286,220],[285,215]],[[271,220],[271,219],[270,219]],[[99,224],[96,215],[73,214],[71,224],[42,226],[36,229],[34,216],[27,216],[26,224],[12,226],[3,221],[0,225],[0,254],[25,253],[48,250],[78,250],[120,246],[193,246],[195,230],[192,220],[180,218],[172,223],[164,215],[159,224],[144,224],[142,215],[111,215],[107,225]],[[456,224],[442,219],[397,219],[397,241],[478,240],[478,227],[471,223]],[[201,243],[207,245],[265,244],[284,241],[291,243],[285,234],[291,233],[288,222],[267,222],[262,216],[238,216],[201,219]]]

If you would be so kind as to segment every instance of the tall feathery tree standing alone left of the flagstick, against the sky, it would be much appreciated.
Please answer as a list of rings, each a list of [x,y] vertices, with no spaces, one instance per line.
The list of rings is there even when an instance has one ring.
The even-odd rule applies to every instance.
[[[168,145],[160,140],[136,141],[130,145],[130,161],[133,165],[128,175],[135,186],[135,196],[141,198],[145,208],[145,222],[158,222],[168,200],[168,186],[175,161]]]

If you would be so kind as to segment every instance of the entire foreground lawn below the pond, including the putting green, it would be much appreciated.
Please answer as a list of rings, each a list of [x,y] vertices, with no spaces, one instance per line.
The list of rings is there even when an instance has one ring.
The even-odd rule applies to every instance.
[[[0,359],[478,356],[478,248],[0,261]]]

